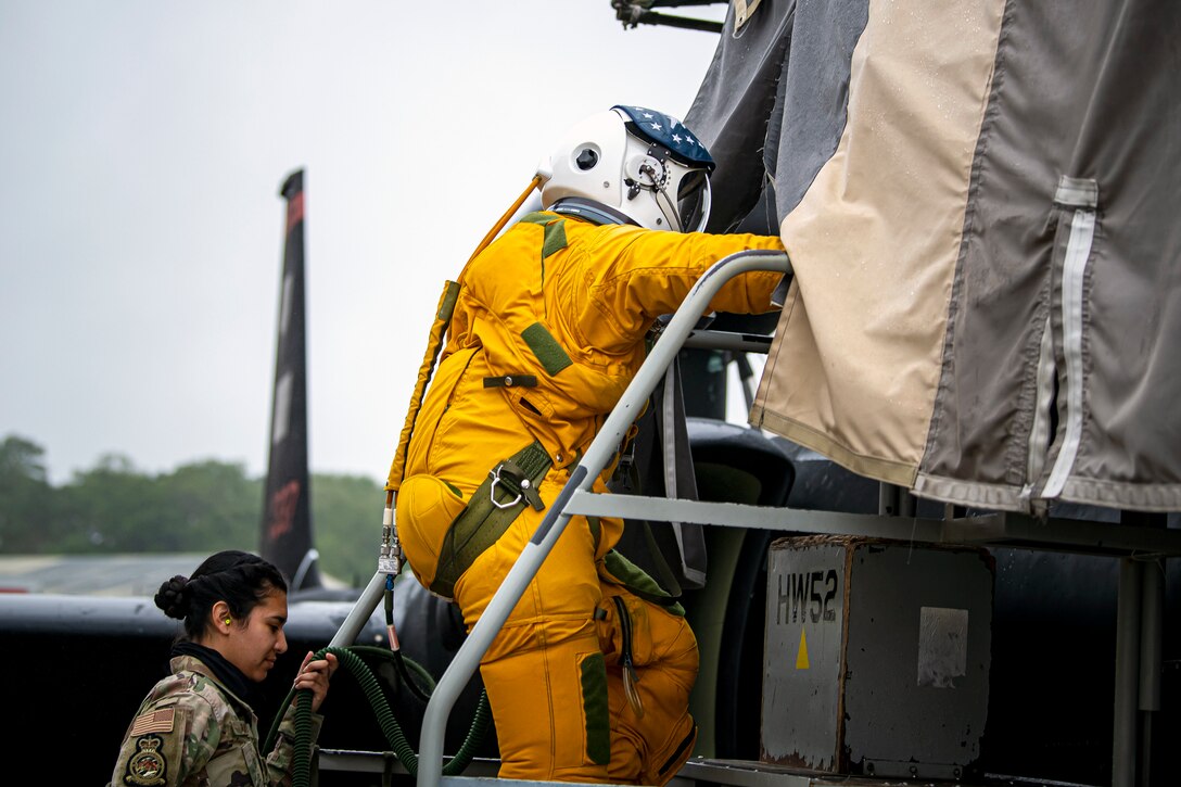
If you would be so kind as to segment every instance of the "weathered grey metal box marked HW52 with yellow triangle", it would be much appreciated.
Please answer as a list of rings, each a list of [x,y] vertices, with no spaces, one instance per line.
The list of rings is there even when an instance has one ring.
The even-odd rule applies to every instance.
[[[859,536],[771,544],[761,759],[961,779],[988,705],[996,561]]]

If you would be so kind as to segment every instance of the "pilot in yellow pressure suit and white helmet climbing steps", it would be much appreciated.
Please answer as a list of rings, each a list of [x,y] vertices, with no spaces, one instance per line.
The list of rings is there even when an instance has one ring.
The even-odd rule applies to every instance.
[[[638,371],[652,323],[722,258],[783,249],[694,232],[712,167],[676,118],[594,115],[542,168],[546,210],[451,290],[446,345],[387,488],[415,575],[454,598],[469,630]],[[710,307],[771,311],[781,278],[737,277]],[[612,549],[621,529],[574,516],[483,657],[502,778],[663,785],[692,753],[697,642],[679,605]]]

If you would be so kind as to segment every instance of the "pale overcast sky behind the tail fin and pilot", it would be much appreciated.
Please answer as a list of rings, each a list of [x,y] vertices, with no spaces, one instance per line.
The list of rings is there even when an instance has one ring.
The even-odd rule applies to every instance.
[[[384,481],[443,281],[568,125],[684,117],[716,43],[608,0],[0,0],[0,438],[56,483],[263,474],[302,168],[312,470]]]

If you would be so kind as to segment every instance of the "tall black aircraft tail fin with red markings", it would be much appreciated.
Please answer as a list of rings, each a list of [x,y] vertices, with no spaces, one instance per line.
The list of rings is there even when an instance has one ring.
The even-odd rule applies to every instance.
[[[307,358],[304,317],[304,170],[292,173],[279,194],[287,200],[279,346],[270,405],[270,449],[263,495],[263,558],[275,564],[291,591],[320,587],[312,547],[307,469]]]

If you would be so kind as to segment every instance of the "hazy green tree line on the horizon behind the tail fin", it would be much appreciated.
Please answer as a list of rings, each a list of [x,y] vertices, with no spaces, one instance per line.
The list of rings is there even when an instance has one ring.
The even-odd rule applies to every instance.
[[[44,458],[25,437],[0,443],[2,554],[259,549],[263,479],[242,464],[210,460],[152,475],[111,454],[53,486]],[[355,475],[312,474],[309,483],[321,571],[364,584],[377,567],[385,493]]]

